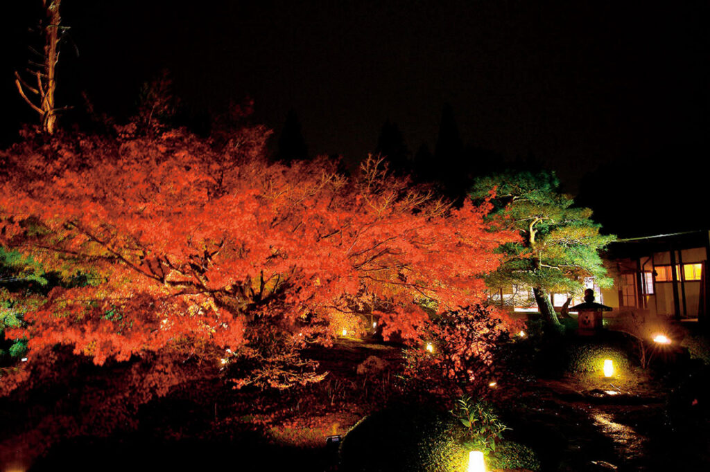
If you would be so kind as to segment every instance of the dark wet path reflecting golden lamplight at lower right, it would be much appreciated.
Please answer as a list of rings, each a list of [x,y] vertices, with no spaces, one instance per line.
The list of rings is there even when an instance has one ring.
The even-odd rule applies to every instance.
[[[540,454],[544,471],[652,472],[704,460],[692,456],[692,444],[679,440],[681,434],[667,424],[664,396],[578,387],[536,381],[506,415],[515,436]]]

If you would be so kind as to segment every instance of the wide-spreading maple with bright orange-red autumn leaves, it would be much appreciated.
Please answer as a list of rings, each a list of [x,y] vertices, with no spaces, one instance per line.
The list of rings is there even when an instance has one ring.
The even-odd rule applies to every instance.
[[[514,238],[485,223],[488,203],[449,208],[381,159],[354,178],[327,159],[269,163],[267,137],[72,135],[0,153],[0,246],[86,281],[53,288],[7,330],[29,339],[29,364],[55,344],[95,364],[163,351],[268,360],[271,344],[361,330],[366,313],[416,342],[430,328],[422,305],[485,300],[493,249]]]

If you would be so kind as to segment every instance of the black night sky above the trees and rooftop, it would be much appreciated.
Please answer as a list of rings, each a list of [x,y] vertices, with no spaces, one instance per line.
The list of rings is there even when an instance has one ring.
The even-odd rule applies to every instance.
[[[29,4],[41,2],[14,3],[1,38],[5,142],[33,119],[11,72],[27,59]],[[706,1],[64,0],[62,11],[80,51],[62,52],[65,103],[81,105],[85,90],[124,116],[167,67],[192,113],[248,95],[278,134],[295,108],[314,154],[364,157],[387,119],[410,150],[433,148],[448,102],[464,141],[532,154],[572,192],[600,166],[610,185],[636,181],[627,193],[639,198],[682,203],[686,172],[694,187],[706,181]],[[659,170],[669,162],[684,170]]]

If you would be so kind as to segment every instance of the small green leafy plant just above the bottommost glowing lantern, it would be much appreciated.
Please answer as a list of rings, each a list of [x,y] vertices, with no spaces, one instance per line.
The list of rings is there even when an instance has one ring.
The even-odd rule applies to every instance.
[[[484,401],[473,403],[469,396],[459,398],[456,408],[451,412],[466,428],[466,448],[486,455],[496,451],[496,444],[503,439],[503,432],[510,429],[498,418],[493,405]]]

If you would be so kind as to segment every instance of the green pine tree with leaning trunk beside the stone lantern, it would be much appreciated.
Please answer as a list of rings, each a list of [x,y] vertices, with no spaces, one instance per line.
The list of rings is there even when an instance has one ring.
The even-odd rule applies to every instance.
[[[559,192],[554,172],[506,172],[476,179],[471,198],[482,200],[496,189],[491,218],[520,233],[520,242],[501,247],[506,262],[488,277],[489,286],[532,288],[547,324],[560,322],[550,293],[580,293],[584,279],[611,286],[599,251],[616,239],[600,235],[589,208],[575,208],[572,196]]]

